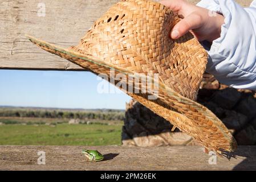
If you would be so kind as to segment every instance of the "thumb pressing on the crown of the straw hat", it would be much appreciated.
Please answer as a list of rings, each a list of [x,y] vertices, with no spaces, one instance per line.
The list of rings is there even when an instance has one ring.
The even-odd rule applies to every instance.
[[[178,39],[185,35],[188,31],[201,27],[202,16],[197,13],[192,13],[181,19],[170,32],[170,37],[172,39]]]

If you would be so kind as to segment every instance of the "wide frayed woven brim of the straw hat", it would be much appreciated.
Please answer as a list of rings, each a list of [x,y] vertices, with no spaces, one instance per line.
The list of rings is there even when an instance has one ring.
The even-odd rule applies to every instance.
[[[55,46],[29,35],[26,36],[32,43],[35,43],[40,48],[63,57],[95,74],[104,73],[107,74],[108,77],[111,77],[110,71],[114,69],[115,74],[123,73],[127,77],[146,79],[144,75],[118,67],[112,63],[94,57],[90,55],[90,53],[79,53],[78,51]],[[152,78],[152,80],[158,83],[159,91],[157,94],[150,91],[147,93],[134,93],[129,92],[128,89],[120,89],[135,98],[135,100],[139,101],[145,107],[148,107],[148,109],[151,109],[154,113],[165,118],[172,123],[173,126],[178,127],[178,129],[196,139],[197,142],[201,143],[208,151],[216,151],[218,153],[221,153],[221,151],[231,152],[237,148],[237,142],[230,134],[229,130],[227,130],[224,123],[222,123],[212,111],[189,98],[181,96],[181,94],[175,92],[165,84],[162,84],[162,82],[154,80],[154,78]],[[115,82],[117,81],[120,80],[115,80]],[[142,87],[143,85],[140,86],[139,89]],[[157,99],[149,100],[149,94],[155,95]]]

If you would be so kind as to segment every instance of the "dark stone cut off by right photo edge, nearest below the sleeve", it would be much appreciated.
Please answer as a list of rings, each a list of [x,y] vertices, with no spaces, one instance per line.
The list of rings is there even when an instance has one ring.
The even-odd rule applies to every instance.
[[[249,119],[256,117],[256,98],[252,94],[249,94],[249,96],[238,102],[235,110],[245,114]]]

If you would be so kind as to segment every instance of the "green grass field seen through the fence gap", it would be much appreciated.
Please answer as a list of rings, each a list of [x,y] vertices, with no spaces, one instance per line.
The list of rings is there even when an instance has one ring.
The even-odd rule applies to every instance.
[[[1,145],[112,145],[121,144],[122,123],[113,125],[21,125],[15,119],[0,125]],[[3,121],[1,121],[3,123]]]

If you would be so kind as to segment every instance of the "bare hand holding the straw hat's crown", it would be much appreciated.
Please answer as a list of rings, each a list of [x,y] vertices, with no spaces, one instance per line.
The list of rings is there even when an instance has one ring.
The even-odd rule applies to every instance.
[[[160,3],[184,17],[173,27],[170,33],[172,39],[178,39],[190,30],[199,41],[213,42],[213,40],[220,38],[224,16],[184,0],[162,0]]]

